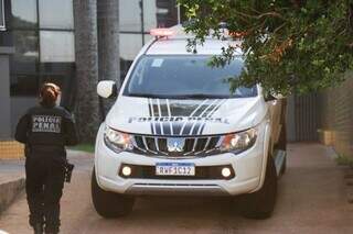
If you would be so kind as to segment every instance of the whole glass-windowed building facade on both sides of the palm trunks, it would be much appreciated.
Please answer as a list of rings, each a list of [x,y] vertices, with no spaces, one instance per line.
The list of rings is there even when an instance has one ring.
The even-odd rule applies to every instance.
[[[1,55],[0,73],[8,75],[0,79],[0,109],[10,108],[0,118],[1,137],[13,136],[19,116],[35,103],[39,87],[44,81],[60,85],[62,105],[73,110],[75,56],[79,53],[74,47],[73,1],[0,0],[0,4],[4,3],[4,8],[0,8],[0,48],[13,48],[7,60]],[[120,3],[120,74],[124,79],[135,56],[152,38],[150,29],[176,24],[178,9],[175,0],[117,1]]]

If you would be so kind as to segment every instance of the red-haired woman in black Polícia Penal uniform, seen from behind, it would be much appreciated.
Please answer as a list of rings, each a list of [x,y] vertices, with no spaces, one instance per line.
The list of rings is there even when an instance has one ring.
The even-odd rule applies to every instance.
[[[35,234],[60,231],[60,200],[63,193],[66,145],[77,144],[72,115],[56,104],[61,90],[46,82],[40,90],[40,104],[20,119],[15,140],[25,144],[25,191],[30,225]]]

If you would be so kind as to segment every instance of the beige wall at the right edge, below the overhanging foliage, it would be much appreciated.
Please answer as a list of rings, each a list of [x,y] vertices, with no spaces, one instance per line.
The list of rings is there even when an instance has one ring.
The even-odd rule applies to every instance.
[[[353,73],[335,88],[319,94],[319,136],[336,153],[353,159]]]

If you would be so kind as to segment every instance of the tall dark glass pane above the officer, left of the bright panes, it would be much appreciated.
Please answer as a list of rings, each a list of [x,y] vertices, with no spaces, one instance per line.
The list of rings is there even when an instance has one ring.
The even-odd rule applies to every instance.
[[[38,34],[13,31],[14,54],[10,59],[11,94],[35,96],[39,90]]]

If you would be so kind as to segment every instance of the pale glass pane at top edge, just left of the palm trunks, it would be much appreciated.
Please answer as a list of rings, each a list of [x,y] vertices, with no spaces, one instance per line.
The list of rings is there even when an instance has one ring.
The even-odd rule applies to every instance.
[[[39,0],[41,29],[74,29],[73,0]]]

